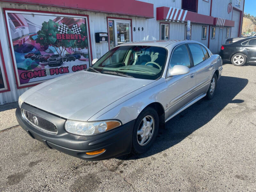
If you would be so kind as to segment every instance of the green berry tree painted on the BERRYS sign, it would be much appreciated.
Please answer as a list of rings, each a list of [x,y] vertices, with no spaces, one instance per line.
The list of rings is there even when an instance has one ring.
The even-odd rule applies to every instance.
[[[60,33],[58,26],[60,26],[59,23],[55,23],[53,20],[44,21],[41,30],[37,32],[36,43],[39,43],[41,46],[53,46],[56,52],[63,56],[66,48],[74,46],[76,40],[57,39],[56,34]],[[73,32],[69,30],[68,34],[73,34]]]

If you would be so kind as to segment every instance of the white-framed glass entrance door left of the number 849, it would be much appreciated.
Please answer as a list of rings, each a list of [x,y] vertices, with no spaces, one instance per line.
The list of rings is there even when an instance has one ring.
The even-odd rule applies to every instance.
[[[108,19],[109,48],[131,41],[131,21]]]

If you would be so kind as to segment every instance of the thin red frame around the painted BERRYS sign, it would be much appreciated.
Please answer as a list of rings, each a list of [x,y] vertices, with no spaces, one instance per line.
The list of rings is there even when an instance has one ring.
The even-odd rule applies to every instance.
[[[20,86],[18,84],[18,79],[17,79],[17,73],[15,70],[15,64],[14,64],[14,58],[13,58],[13,54],[12,54],[12,46],[11,46],[11,39],[9,36],[9,29],[8,29],[8,25],[7,25],[7,18],[6,18],[6,11],[22,11],[22,12],[38,12],[38,13],[50,13],[50,14],[60,14],[60,15],[71,15],[71,16],[82,16],[82,17],[87,17],[87,24],[88,24],[88,36],[90,39],[90,56],[91,56],[91,60],[89,61],[89,65],[92,62],[92,42],[91,42],[91,33],[90,33],[90,21],[89,21],[89,15],[81,15],[81,14],[72,14],[72,13],[60,13],[60,12],[47,12],[47,11],[36,11],[36,10],[24,10],[24,9],[9,9],[9,8],[3,8],[4,11],[4,20],[5,20],[5,27],[6,27],[6,31],[7,31],[7,36],[8,36],[8,41],[9,41],[9,48],[11,51],[11,56],[12,56],[12,66],[15,72],[15,80],[16,80],[16,86],[17,89],[22,89],[22,88],[26,88],[26,87],[31,87],[31,86],[36,86],[40,83],[35,83],[35,84],[30,84],[30,85],[25,85],[25,86]]]

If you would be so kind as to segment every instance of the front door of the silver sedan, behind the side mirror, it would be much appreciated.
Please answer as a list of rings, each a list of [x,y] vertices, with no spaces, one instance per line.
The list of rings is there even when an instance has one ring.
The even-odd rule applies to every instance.
[[[196,85],[196,70],[191,68],[192,63],[186,44],[179,45],[173,50],[168,69],[175,65],[185,65],[190,68],[190,72],[167,76],[167,118],[194,99],[191,93]]]

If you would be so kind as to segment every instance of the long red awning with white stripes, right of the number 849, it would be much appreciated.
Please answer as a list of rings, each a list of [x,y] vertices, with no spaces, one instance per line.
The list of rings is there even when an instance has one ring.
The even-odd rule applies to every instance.
[[[196,12],[178,9],[175,7],[157,7],[156,20],[187,22],[190,20],[193,23],[202,23],[207,25],[228,26],[234,27],[235,22],[224,18],[217,18],[208,15],[198,14]]]

